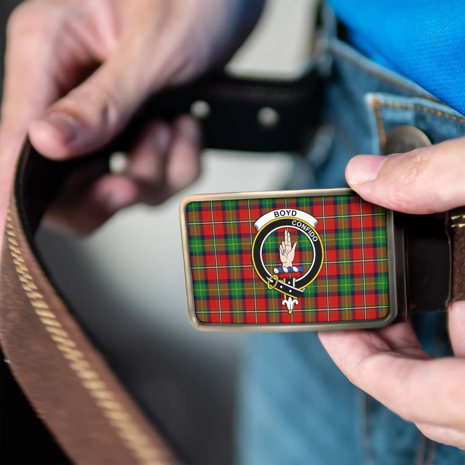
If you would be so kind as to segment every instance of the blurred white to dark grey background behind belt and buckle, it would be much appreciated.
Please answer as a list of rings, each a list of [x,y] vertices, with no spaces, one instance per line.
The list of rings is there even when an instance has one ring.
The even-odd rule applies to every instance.
[[[296,77],[308,58],[313,14],[313,0],[267,0],[229,71]],[[234,393],[247,336],[190,326],[179,202],[190,193],[279,189],[291,170],[288,154],[205,151],[199,180],[163,205],[128,208],[86,239],[47,231],[38,237],[53,278],[122,380],[195,463],[232,461]],[[161,264],[169,272],[160,272]]]

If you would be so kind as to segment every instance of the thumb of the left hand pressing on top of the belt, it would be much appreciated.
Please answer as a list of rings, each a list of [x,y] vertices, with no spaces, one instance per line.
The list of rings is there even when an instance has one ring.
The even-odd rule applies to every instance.
[[[56,159],[104,146],[153,91],[156,76],[143,69],[146,60],[119,49],[87,80],[49,107],[29,127],[33,146]],[[149,76],[152,76],[149,79]]]

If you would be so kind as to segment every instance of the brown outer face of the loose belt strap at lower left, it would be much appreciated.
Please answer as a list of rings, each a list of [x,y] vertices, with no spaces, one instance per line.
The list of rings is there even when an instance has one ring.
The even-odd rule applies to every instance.
[[[47,278],[13,194],[0,273],[0,341],[9,368],[76,464],[176,463]]]

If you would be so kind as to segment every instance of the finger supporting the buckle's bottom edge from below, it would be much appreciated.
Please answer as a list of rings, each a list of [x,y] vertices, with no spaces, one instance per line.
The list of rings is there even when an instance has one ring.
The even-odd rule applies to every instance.
[[[400,333],[406,326],[400,326]],[[394,328],[394,326],[393,326]],[[391,330],[392,339],[395,329]],[[376,332],[320,333],[336,365],[368,394],[408,421],[465,427],[465,361],[425,360],[421,352],[393,352]],[[406,341],[405,348],[411,347]],[[408,352],[408,351],[407,351]],[[416,358],[415,354],[417,355]],[[408,357],[408,358],[407,358]],[[434,399],[434,401],[432,401]]]

